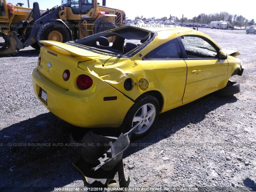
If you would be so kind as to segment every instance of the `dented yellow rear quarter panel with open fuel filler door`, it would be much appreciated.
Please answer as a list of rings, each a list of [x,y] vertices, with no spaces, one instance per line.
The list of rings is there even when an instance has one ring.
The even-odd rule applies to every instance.
[[[170,38],[177,37],[177,34],[166,31],[160,34],[153,42],[130,58],[106,56],[98,61],[80,62],[78,67],[107,82],[132,100],[136,100],[146,92],[159,92],[164,100],[161,112],[180,106],[186,84],[187,69],[184,60],[142,60],[143,56],[154,48],[170,41]],[[146,78],[149,81],[149,87],[146,90],[141,90],[139,86],[134,86],[132,90],[127,91],[124,88],[124,81],[127,78],[131,78],[134,82],[138,82],[140,78]]]

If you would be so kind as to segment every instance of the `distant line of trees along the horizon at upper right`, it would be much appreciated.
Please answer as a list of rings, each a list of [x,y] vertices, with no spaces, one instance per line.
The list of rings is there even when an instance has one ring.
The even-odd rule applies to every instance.
[[[142,20],[146,20],[146,18],[143,18],[143,16],[139,17],[135,17],[136,19],[142,19]],[[157,20],[172,20],[174,22],[182,22],[182,18],[178,18],[176,16],[171,16],[171,18],[167,18],[167,17],[162,17],[162,18],[158,18]],[[229,14],[228,12],[220,12],[220,13],[214,13],[214,14],[204,14],[201,13],[198,16],[194,16],[192,19],[188,19],[186,17],[183,18],[183,22],[188,22],[188,23],[200,23],[200,24],[210,24],[210,22],[212,21],[228,21],[231,25],[233,26],[250,26],[250,25],[254,25],[255,21],[254,19],[252,20],[248,20],[246,19],[244,16],[242,15],[232,15]]]

